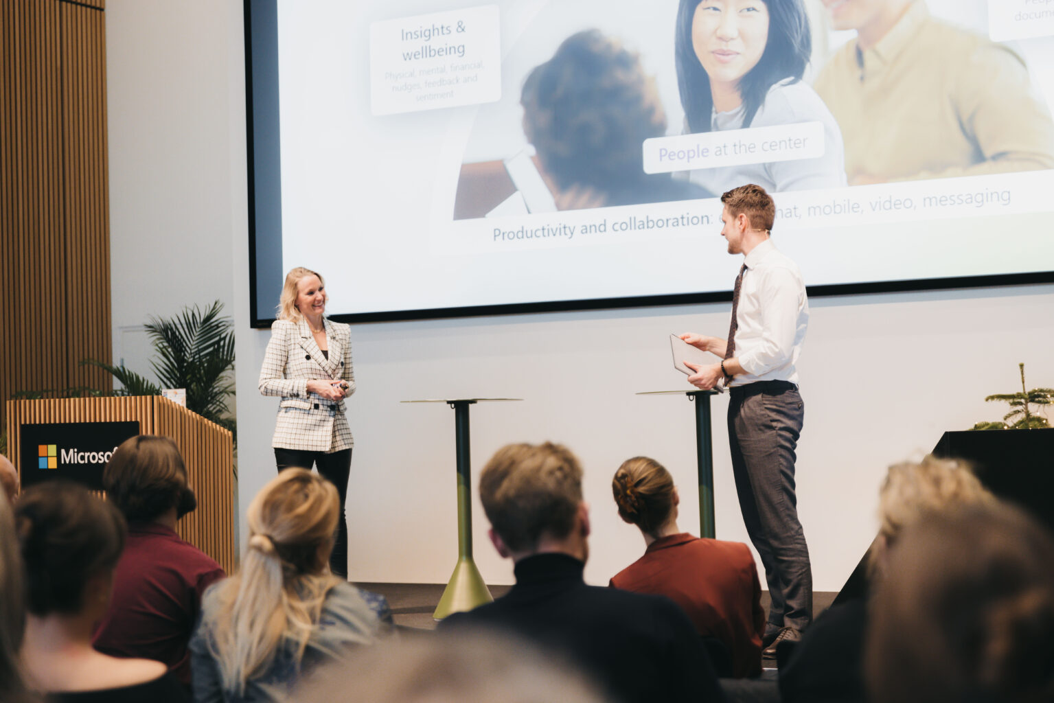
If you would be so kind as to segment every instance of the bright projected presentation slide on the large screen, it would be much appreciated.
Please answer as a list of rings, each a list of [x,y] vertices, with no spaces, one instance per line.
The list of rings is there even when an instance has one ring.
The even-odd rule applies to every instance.
[[[747,182],[811,287],[1054,271],[1054,0],[276,16],[281,268],[331,314],[724,293]]]

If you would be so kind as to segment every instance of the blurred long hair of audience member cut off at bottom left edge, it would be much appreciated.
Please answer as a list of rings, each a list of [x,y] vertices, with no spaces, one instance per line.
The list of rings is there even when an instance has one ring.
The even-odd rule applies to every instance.
[[[7,499],[0,495],[0,701],[20,701],[25,696],[18,659],[24,630],[22,562],[15,519]]]

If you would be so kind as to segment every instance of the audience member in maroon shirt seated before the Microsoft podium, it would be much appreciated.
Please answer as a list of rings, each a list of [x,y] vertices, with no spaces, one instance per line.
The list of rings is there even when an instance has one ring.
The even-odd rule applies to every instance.
[[[169,437],[140,434],[117,448],[102,484],[128,520],[129,533],[114,573],[113,600],[93,645],[113,657],[163,662],[189,686],[187,647],[201,594],[226,574],[176,534],[176,521],[197,507],[183,458]]]

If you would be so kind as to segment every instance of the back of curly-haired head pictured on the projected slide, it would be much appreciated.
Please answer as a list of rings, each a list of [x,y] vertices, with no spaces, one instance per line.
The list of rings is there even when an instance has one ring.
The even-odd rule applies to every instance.
[[[642,144],[666,133],[653,78],[640,57],[597,30],[568,37],[524,82],[524,132],[559,191],[605,201],[644,178]],[[559,198],[558,198],[559,200]]]

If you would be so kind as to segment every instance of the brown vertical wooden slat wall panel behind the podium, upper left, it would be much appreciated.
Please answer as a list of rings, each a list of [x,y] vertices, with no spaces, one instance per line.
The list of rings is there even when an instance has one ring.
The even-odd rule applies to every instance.
[[[0,2],[0,399],[111,387],[102,8]]]

